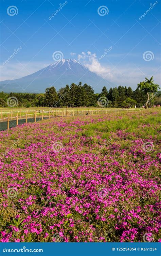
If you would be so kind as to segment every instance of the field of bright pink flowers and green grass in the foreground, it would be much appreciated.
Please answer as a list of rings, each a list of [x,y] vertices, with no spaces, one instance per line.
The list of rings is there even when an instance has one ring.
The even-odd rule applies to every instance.
[[[0,132],[1,242],[159,242],[159,109]]]

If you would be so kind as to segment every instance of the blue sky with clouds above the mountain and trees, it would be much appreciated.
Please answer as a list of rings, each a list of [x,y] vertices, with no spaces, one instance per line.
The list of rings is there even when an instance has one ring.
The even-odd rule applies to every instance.
[[[151,75],[160,84],[159,0],[0,1],[1,81],[44,68],[61,51],[64,58],[78,60],[117,86],[135,89]],[[13,5],[18,13],[11,16],[7,8]],[[100,15],[100,6],[107,15]]]

